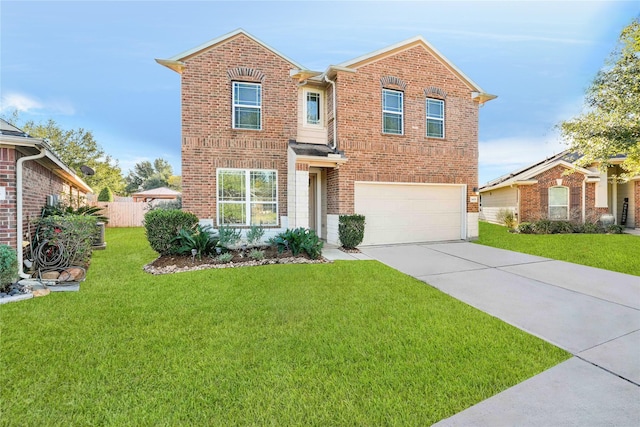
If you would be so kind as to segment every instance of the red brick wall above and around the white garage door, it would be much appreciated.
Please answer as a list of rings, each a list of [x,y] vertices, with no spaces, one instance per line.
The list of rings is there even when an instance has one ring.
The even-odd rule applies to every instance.
[[[382,84],[404,93],[404,134],[382,133]],[[468,196],[478,185],[478,105],[471,90],[421,46],[414,46],[358,68],[338,72],[338,149],[347,163],[328,174],[328,213],[354,210],[354,181],[467,184]],[[400,82],[400,85],[388,83]],[[426,136],[425,90],[446,97],[445,138]],[[337,182],[336,182],[337,181]],[[339,187],[339,191],[336,189]],[[467,198],[468,200],[468,198]],[[477,203],[467,205],[478,212]]]

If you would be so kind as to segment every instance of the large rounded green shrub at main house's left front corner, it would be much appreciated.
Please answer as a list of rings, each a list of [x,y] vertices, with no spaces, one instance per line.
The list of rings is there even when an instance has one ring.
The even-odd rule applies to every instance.
[[[147,240],[160,255],[177,253],[179,245],[174,237],[181,229],[192,230],[197,223],[197,216],[179,209],[154,209],[144,215]]]

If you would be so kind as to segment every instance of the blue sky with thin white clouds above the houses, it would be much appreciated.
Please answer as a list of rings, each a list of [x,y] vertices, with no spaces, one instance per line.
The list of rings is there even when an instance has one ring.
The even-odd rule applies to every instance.
[[[564,149],[554,126],[640,15],[624,1],[0,1],[0,112],[94,133],[124,173],[180,173],[169,58],[243,28],[310,69],[422,35],[485,91],[480,184]]]

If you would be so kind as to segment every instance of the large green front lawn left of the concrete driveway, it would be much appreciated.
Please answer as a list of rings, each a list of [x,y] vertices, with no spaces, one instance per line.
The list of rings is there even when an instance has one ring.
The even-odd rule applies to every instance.
[[[151,276],[0,306],[3,425],[430,425],[569,357],[375,261]]]

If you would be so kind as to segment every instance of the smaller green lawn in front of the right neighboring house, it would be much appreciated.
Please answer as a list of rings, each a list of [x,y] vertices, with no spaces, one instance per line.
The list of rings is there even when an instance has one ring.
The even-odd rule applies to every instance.
[[[640,276],[640,237],[630,234],[517,234],[480,222],[477,243]]]

